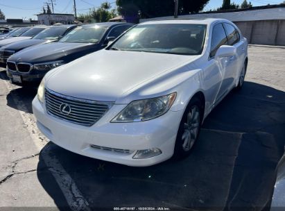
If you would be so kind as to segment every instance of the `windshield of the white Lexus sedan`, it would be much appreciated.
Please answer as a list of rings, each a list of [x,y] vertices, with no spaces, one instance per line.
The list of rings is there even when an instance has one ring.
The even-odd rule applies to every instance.
[[[202,53],[204,24],[146,24],[132,28],[110,49],[198,55]]]

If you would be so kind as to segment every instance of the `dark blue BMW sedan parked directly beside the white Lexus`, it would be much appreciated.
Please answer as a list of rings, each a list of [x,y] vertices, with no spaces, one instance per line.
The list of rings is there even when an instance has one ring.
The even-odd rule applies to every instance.
[[[78,26],[58,42],[30,47],[10,56],[7,75],[13,83],[21,85],[40,82],[47,71],[105,48],[110,40],[132,26],[114,22]]]

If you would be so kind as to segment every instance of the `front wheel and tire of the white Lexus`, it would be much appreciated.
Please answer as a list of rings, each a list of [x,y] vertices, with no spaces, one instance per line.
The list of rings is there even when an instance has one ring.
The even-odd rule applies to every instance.
[[[191,153],[191,149],[200,134],[203,113],[200,99],[191,99],[180,121],[173,158],[180,160],[186,158]]]

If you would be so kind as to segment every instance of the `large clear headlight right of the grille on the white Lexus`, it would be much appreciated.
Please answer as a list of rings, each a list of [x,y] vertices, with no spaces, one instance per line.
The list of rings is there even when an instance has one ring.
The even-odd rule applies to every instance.
[[[111,122],[147,121],[164,115],[175,101],[176,92],[152,99],[132,101]]]

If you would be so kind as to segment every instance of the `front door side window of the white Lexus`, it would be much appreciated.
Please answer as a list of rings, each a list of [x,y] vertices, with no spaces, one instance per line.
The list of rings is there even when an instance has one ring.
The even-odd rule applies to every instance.
[[[223,44],[227,44],[227,35],[225,34],[225,29],[223,24],[216,24],[211,33],[211,53],[210,57],[215,56],[216,51]]]

